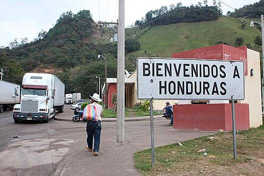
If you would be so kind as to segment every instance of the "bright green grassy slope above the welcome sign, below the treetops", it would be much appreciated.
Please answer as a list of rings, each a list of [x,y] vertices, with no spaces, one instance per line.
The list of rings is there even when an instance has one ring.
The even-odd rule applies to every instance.
[[[240,27],[239,18],[225,16],[216,21],[154,26],[138,38],[141,49],[129,55],[170,57],[173,52],[216,45],[218,42],[234,46],[236,37],[243,37],[243,45],[250,43],[253,50],[261,51],[261,47],[254,46],[253,42],[254,37],[261,36],[261,33],[256,27],[249,27],[251,20],[246,21],[248,25],[244,29]]]

